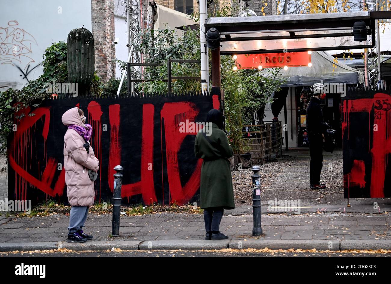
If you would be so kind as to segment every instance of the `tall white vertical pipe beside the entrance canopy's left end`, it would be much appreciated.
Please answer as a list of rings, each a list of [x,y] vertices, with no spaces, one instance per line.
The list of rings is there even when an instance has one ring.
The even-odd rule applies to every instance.
[[[206,47],[206,18],[207,18],[206,0],[199,1],[199,25],[200,25],[200,48],[201,48],[201,92],[209,90],[208,78],[208,48]]]

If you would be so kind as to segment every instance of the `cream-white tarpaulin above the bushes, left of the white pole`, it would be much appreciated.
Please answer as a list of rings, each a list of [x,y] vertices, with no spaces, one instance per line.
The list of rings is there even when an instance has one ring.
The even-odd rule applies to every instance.
[[[188,14],[175,11],[173,9],[156,5],[157,8],[157,18],[155,19],[154,29],[165,29],[165,26],[170,27],[170,29],[175,29],[175,27],[181,27],[184,25],[194,25],[196,24]],[[178,36],[183,35],[183,31],[175,29]]]

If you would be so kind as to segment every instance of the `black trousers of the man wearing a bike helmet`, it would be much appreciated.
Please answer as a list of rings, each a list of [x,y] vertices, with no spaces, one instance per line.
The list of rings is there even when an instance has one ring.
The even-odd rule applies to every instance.
[[[320,173],[323,166],[323,136],[322,134],[309,134],[310,143],[310,184],[320,184]]]

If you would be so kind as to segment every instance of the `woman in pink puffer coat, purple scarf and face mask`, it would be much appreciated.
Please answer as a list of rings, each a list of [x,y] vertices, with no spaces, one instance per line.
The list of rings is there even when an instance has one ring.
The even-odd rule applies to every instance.
[[[89,142],[92,127],[85,124],[83,110],[77,107],[67,110],[61,120],[68,127],[64,136],[64,168],[66,194],[72,206],[67,241],[85,242],[92,239],[92,236],[84,233],[82,228],[87,219],[88,207],[94,203],[93,180],[96,179],[95,173],[99,170],[99,161]]]

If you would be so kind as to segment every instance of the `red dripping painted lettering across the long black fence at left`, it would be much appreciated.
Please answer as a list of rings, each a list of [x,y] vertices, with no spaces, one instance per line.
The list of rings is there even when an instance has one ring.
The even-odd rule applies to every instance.
[[[166,172],[162,171],[160,173],[160,167],[155,169],[153,166],[154,163],[157,163],[158,165],[160,165],[160,163],[163,164],[163,161],[165,160],[164,163],[167,165],[167,179],[165,180],[166,183],[164,185],[166,187],[167,183],[169,185],[170,203],[187,203],[199,189],[202,160],[199,159],[194,164],[194,167],[187,165],[186,161],[178,161],[179,153],[182,153],[183,155],[183,153],[188,151],[190,155],[193,155],[194,149],[191,147],[191,144],[189,145],[189,140],[185,138],[188,135],[194,136],[196,134],[180,133],[179,122],[185,121],[186,119],[189,121],[194,121],[197,118],[200,112],[199,108],[197,107],[197,103],[192,103],[187,100],[167,102],[165,99],[163,100],[164,102],[161,103],[160,115],[158,113],[155,114],[156,110],[154,104],[142,103],[141,137],[129,136],[129,132],[126,132],[129,130],[125,130],[125,132],[122,130],[124,127],[125,129],[129,129],[127,125],[123,124],[124,121],[133,121],[132,119],[129,120],[128,118],[129,109],[127,109],[127,111],[123,111],[122,105],[120,103],[103,105],[105,108],[104,111],[108,112],[109,117],[109,134],[104,139],[108,138],[109,140],[106,142],[107,146],[102,147],[102,135],[105,135],[102,133],[102,116],[104,116],[104,111],[102,111],[102,106],[97,101],[87,101],[86,103],[81,103],[81,105],[84,106],[88,105],[84,111],[88,111],[88,122],[93,127],[93,137],[91,139],[91,144],[95,150],[97,158],[100,161],[101,170],[99,173],[99,187],[98,185],[95,185],[95,198],[100,200],[102,190],[104,190],[106,197],[108,195],[106,190],[113,192],[113,174],[115,173],[113,168],[116,165],[121,165],[121,162],[126,164],[129,162],[127,159],[133,158],[124,156],[121,159],[121,152],[125,152],[125,155],[129,153],[130,143],[131,147],[136,147],[136,152],[132,153],[136,154],[136,158],[140,158],[140,168],[137,168],[136,170],[128,168],[126,170],[129,171],[131,175],[138,176],[138,169],[140,169],[140,180],[134,183],[123,183],[122,197],[127,198],[129,202],[130,198],[133,198],[134,195],[140,195],[142,197],[142,201],[145,204],[161,202],[160,199],[158,200],[156,196],[156,180],[154,181],[154,172],[157,170],[159,172],[158,174],[161,174],[162,177],[166,174]],[[203,110],[203,113],[210,109],[212,105],[215,109],[220,108],[218,96],[213,96],[212,99],[209,97],[209,99],[205,100],[196,99],[195,101],[201,101],[201,109]],[[79,106],[79,103],[74,103],[73,105]],[[129,105],[127,106],[129,107]],[[63,112],[63,109],[64,107],[61,108],[61,113]],[[136,107],[135,110],[137,111],[133,115],[139,116],[140,108]],[[18,124],[18,131],[15,132],[13,138],[11,139],[11,143],[9,144],[10,169],[11,171],[15,172],[15,197],[18,196],[19,199],[25,199],[28,188],[31,187],[38,188],[50,197],[62,196],[64,189],[66,188],[65,170],[62,169],[60,173],[57,172],[58,159],[60,159],[63,154],[63,146],[61,145],[58,136],[63,137],[66,129],[65,127],[64,129],[61,127],[58,128],[56,127],[56,124],[50,125],[50,119],[52,119],[52,121],[56,120],[55,123],[58,123],[58,119],[50,117],[51,111],[52,110],[50,110],[50,107],[40,107],[33,110],[35,115],[31,117],[26,116],[20,121]],[[30,109],[25,110],[26,115],[29,114],[29,112]],[[57,109],[54,111],[54,113],[57,116],[59,115]],[[121,116],[125,116],[126,119],[121,119]],[[164,148],[166,157],[161,156],[161,161],[159,161],[160,150],[158,149],[163,147],[163,145],[159,145],[161,144],[159,140],[163,141],[163,139],[156,139],[156,136],[158,137],[158,132],[160,131],[155,130],[156,127],[159,127],[158,120],[156,120],[158,117],[160,117],[161,129],[164,128],[161,135],[164,136],[165,140]],[[38,152],[42,153],[42,150],[36,150],[39,148],[37,139],[39,139],[39,136],[41,135],[40,133],[37,134],[37,132],[34,132],[34,127],[36,128],[38,125],[37,122],[40,123],[39,125],[42,125],[43,129],[42,137],[44,141],[44,154],[39,154],[41,156],[38,156]],[[50,156],[47,157],[46,141],[48,139],[49,132],[51,139],[50,147],[53,146],[53,139],[56,141],[56,145],[54,146],[56,158]],[[57,139],[54,138],[52,134],[55,134]],[[122,139],[122,137],[124,138]],[[131,139],[129,139],[129,137]],[[124,145],[126,145],[126,147]],[[183,147],[183,145],[187,146]],[[139,152],[137,150],[138,147],[140,147]],[[61,148],[61,150],[59,150],[59,148]],[[51,150],[52,149],[53,148],[51,148]],[[32,152],[33,150],[36,152]],[[159,153],[159,156],[154,157],[154,155],[157,153]],[[102,156],[102,154],[104,155]],[[33,157],[33,155],[35,155],[35,157]],[[104,161],[108,161],[107,170],[104,165]],[[39,164],[42,165],[42,163],[45,163],[45,168],[39,170]],[[36,173],[34,169],[37,167],[38,174],[32,174],[32,171]],[[107,173],[107,176],[106,174],[103,174],[103,179],[102,168],[105,168],[105,172]],[[184,168],[186,169],[186,175],[189,176],[186,182],[181,181],[183,177],[180,175],[180,169],[183,170]],[[103,184],[102,180],[104,181]],[[106,182],[109,185],[108,187],[106,186]],[[184,184],[182,185],[182,183]],[[163,186],[163,184],[161,186]],[[160,188],[160,185],[157,187]]]

